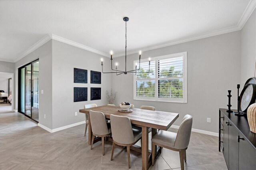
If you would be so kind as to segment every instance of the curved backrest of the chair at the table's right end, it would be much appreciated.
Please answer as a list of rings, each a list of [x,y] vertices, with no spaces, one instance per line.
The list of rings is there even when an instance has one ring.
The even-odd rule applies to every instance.
[[[182,123],[180,124],[176,140],[174,142],[174,148],[185,149],[188,147],[192,129],[192,122],[193,119],[191,115],[184,116]]]

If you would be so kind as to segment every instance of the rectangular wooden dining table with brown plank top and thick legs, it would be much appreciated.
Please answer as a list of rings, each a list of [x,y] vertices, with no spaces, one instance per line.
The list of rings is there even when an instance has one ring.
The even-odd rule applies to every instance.
[[[132,146],[130,149],[140,152],[142,154],[142,170],[148,170],[152,164],[151,150],[148,149],[148,133],[151,128],[152,136],[154,136],[159,130],[168,130],[170,126],[178,119],[178,113],[170,113],[163,111],[151,111],[145,109],[132,108],[132,113],[119,112],[118,106],[104,105],[99,107],[92,107],[88,109],[80,109],[80,113],[88,114],[88,144],[91,144],[92,140],[92,127],[90,124],[90,110],[102,112],[106,119],[110,119],[110,114],[128,117],[132,125],[142,128],[142,146]],[[98,142],[101,138],[95,138],[94,142]],[[113,141],[111,137],[108,140]],[[156,146],[154,148],[155,158],[161,153],[161,147]]]

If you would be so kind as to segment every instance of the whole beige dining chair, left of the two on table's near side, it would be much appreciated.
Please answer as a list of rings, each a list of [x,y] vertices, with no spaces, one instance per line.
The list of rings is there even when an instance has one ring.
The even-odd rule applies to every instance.
[[[92,144],[95,136],[100,136],[102,141],[102,155],[105,154],[104,151],[104,139],[106,136],[111,135],[110,123],[106,122],[106,118],[102,112],[96,112],[90,110],[90,121],[92,126]]]

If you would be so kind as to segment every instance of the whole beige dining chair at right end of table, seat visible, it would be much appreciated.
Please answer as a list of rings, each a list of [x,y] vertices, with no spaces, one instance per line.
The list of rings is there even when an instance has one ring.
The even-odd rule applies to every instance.
[[[186,162],[186,149],[188,148],[190,134],[192,129],[192,116],[185,115],[177,133],[165,130],[159,130],[152,139],[152,165],[155,162],[156,145],[170,150],[180,152],[180,166],[184,170],[184,161]]]

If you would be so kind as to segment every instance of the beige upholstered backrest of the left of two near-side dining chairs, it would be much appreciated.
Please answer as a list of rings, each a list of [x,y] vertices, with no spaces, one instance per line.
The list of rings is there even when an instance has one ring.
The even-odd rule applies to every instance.
[[[90,121],[92,126],[92,133],[98,135],[109,134],[106,118],[102,112],[90,110]]]

